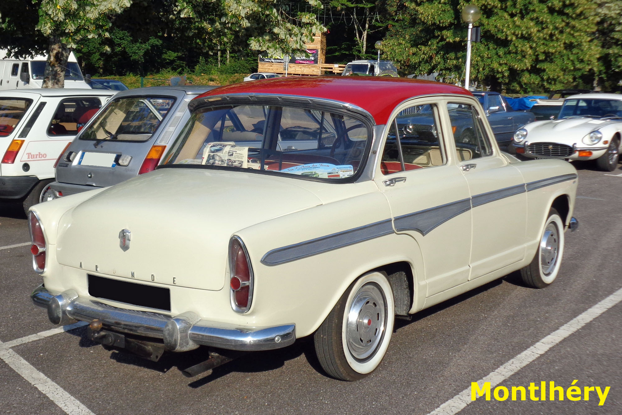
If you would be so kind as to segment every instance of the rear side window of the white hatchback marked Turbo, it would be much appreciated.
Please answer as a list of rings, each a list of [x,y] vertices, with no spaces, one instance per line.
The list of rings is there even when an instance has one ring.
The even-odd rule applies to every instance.
[[[95,97],[62,100],[47,128],[48,135],[76,135],[100,107],[100,98]]]

